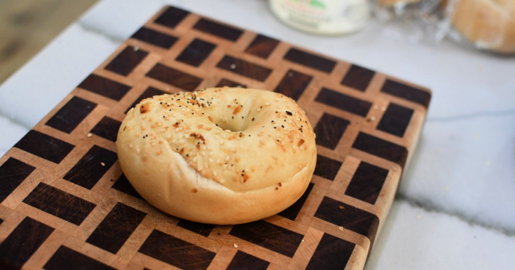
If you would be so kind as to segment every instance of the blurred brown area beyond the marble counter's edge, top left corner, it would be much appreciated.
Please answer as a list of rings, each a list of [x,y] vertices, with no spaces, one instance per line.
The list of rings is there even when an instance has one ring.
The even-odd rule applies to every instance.
[[[0,1],[0,84],[95,2]]]

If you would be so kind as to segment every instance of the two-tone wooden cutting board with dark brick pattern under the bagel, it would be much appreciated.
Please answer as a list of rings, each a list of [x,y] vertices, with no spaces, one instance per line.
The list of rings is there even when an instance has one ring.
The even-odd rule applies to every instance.
[[[223,85],[297,100],[317,135],[315,175],[297,203],[261,221],[171,217],[127,182],[118,127],[142,98]],[[430,98],[423,87],[165,7],[0,158],[0,268],[361,269]]]

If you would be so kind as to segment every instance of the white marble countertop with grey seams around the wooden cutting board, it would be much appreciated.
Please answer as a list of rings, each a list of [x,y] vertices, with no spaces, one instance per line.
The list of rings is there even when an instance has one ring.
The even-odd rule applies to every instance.
[[[366,268],[513,267],[515,58],[414,43],[376,20],[319,37],[280,23],[264,0],[100,1],[0,86],[0,155],[165,4],[431,88],[417,153]]]

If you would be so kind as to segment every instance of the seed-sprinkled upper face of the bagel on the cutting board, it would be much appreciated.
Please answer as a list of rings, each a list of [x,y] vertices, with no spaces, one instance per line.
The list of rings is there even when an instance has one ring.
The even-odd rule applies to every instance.
[[[210,88],[145,99],[138,105],[140,114],[128,112],[140,118],[141,128],[125,126],[123,132],[139,134],[154,155],[167,155],[167,149],[178,153],[201,175],[233,190],[259,187],[263,179],[289,173],[282,171],[285,167],[305,166],[291,159],[314,151],[304,143],[306,135],[313,139],[312,132],[306,134],[312,128],[304,112],[281,94],[261,99],[242,91],[255,90],[238,89],[232,98],[231,88]],[[147,146],[142,142],[130,149],[141,155]],[[270,166],[249,170],[260,160]]]

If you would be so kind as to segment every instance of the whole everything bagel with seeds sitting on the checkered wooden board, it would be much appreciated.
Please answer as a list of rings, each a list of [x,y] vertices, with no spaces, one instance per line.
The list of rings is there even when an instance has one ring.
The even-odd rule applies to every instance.
[[[236,87],[142,100],[122,122],[116,148],[122,171],[151,205],[220,225],[295,203],[317,157],[313,128],[294,100]]]

